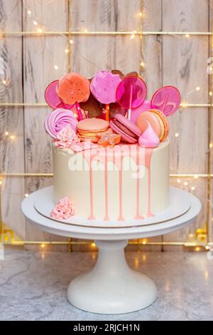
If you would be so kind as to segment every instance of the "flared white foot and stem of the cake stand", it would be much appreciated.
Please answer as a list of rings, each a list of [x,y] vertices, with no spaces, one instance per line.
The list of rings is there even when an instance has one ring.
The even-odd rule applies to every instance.
[[[155,301],[154,282],[126,264],[127,242],[96,241],[99,255],[94,268],[73,279],[67,289],[67,299],[73,306],[99,314],[122,314]]]

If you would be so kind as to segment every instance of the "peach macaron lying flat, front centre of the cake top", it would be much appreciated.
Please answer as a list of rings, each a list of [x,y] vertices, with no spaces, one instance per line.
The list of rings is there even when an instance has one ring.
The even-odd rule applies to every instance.
[[[77,123],[77,131],[80,140],[91,140],[97,143],[99,134],[104,133],[109,128],[109,122],[100,118],[86,118]]]

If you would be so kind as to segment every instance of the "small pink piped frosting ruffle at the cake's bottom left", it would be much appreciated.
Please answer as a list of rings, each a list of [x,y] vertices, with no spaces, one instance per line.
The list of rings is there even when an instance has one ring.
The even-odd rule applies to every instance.
[[[58,204],[53,208],[50,217],[58,220],[66,220],[75,214],[75,209],[68,197],[63,197],[58,201]]]

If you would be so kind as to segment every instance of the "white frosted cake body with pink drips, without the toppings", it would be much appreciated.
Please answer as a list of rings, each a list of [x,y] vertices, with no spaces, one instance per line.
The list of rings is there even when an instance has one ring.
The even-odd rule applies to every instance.
[[[55,203],[69,197],[75,215],[89,220],[156,215],[169,205],[169,146],[169,140],[154,149],[116,145],[92,149],[88,157],[88,150],[53,148]]]

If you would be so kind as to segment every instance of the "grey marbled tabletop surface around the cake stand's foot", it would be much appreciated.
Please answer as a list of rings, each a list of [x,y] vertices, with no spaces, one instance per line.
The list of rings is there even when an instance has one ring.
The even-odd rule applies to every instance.
[[[1,320],[213,320],[213,259],[206,252],[129,252],[151,277],[158,298],[129,314],[92,314],[68,303],[67,285],[89,270],[95,253],[6,251],[0,261]]]

